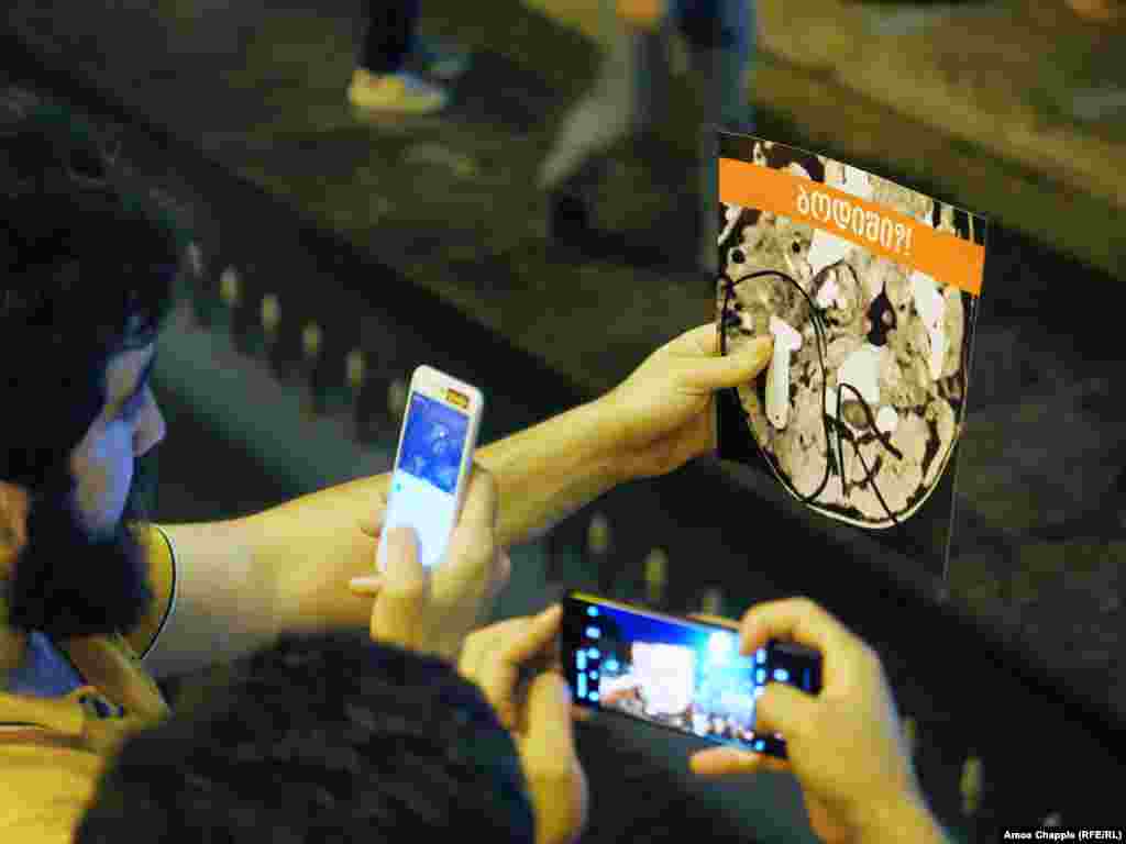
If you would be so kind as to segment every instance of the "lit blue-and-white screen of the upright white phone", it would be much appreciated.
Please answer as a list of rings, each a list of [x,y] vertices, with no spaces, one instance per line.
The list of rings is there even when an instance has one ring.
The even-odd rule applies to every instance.
[[[422,393],[411,394],[383,530],[414,528],[426,568],[441,559],[457,521],[457,479],[468,425],[467,413]]]

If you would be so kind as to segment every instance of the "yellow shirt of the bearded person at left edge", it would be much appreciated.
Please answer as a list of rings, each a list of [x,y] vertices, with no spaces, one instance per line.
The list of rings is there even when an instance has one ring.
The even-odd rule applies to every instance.
[[[61,698],[0,692],[0,841],[70,842],[120,742],[169,715],[137,653],[171,613],[176,560],[155,526],[146,545],[153,602],[137,629],[59,643],[84,685]]]

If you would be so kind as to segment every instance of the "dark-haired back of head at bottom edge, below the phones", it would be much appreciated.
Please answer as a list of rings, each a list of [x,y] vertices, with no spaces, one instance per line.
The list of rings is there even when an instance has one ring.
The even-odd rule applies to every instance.
[[[352,632],[287,635],[129,738],[77,844],[527,842],[530,798],[481,691]],[[440,839],[440,838],[436,838]]]

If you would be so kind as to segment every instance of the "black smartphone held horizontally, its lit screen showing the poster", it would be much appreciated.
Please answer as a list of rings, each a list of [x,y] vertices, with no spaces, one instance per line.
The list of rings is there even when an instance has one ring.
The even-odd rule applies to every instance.
[[[786,758],[781,734],[754,729],[767,683],[821,691],[821,654],[771,639],[750,656],[739,631],[571,592],[561,657],[574,703]]]

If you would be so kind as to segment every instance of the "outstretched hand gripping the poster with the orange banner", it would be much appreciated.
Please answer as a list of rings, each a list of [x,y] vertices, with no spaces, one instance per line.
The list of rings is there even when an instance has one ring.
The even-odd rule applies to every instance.
[[[598,399],[628,477],[678,469],[716,448],[715,392],[747,384],[770,362],[774,340],[762,336],[721,356],[708,323],[649,356],[622,384]]]

